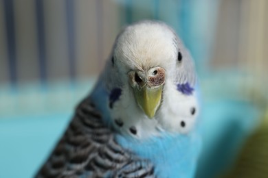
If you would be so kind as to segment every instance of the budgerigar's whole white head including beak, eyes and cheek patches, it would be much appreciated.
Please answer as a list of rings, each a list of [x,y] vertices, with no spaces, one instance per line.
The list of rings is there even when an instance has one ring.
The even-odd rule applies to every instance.
[[[196,109],[192,97],[194,63],[175,31],[165,23],[142,21],[123,29],[104,73],[104,83],[111,91],[111,116],[120,127],[124,123],[134,125],[135,130],[172,130],[175,123],[178,125],[172,121],[178,114],[182,118],[190,113],[188,109],[187,114],[183,112],[183,107]],[[189,96],[193,99],[186,99]],[[186,106],[181,107],[181,103]]]

